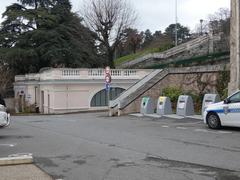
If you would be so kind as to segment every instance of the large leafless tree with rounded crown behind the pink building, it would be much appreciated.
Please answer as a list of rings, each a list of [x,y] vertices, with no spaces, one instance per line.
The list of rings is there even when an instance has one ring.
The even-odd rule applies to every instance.
[[[99,43],[107,51],[108,64],[114,68],[114,53],[130,28],[136,13],[127,0],[88,0],[84,3],[82,16],[86,25],[97,33]]]

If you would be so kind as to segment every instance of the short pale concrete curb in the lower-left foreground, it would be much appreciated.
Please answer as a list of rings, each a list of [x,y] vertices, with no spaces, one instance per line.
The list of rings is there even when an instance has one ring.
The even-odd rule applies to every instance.
[[[0,166],[32,164],[32,163],[33,163],[33,157],[29,155],[0,158]]]

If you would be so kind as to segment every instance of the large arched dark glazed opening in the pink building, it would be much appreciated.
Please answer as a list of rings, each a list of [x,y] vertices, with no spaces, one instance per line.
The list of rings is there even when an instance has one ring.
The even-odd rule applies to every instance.
[[[125,89],[113,87],[110,88],[110,100],[117,98]],[[91,107],[107,106],[107,91],[105,89],[96,93],[91,100]]]

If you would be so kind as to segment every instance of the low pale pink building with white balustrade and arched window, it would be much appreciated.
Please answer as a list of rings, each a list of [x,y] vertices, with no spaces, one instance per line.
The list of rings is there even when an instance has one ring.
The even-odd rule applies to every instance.
[[[152,70],[111,70],[110,99],[148,75]],[[16,111],[23,104],[41,113],[66,113],[107,109],[104,69],[46,69],[15,77]]]

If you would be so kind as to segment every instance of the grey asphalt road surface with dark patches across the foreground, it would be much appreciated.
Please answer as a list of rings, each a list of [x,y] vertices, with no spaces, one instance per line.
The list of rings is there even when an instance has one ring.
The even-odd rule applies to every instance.
[[[33,154],[66,180],[240,179],[240,129],[194,119],[106,113],[15,116],[0,129],[0,156]]]

